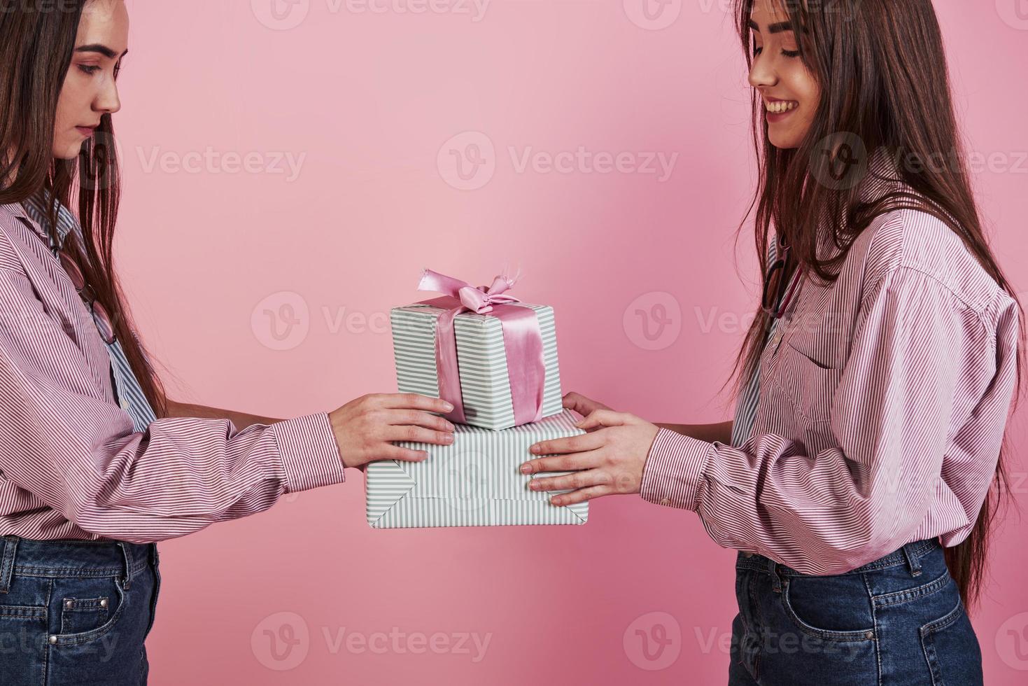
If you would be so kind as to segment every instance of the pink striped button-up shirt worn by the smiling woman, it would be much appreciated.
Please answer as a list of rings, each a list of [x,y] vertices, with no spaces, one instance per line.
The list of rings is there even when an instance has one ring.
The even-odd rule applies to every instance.
[[[876,157],[872,171],[894,169]],[[869,176],[861,197],[887,184]],[[825,233],[827,237],[827,233]],[[821,241],[831,256],[830,239]],[[721,546],[841,574],[970,533],[1016,386],[1017,302],[942,221],[898,210],[839,280],[805,281],[761,358],[739,446],[661,429],[641,497],[697,512]]]

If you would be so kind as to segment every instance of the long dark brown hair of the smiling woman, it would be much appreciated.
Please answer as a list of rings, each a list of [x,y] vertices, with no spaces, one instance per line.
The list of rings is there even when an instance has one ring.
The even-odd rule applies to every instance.
[[[747,68],[754,59],[749,29],[754,0],[735,0],[737,31]],[[792,24],[803,64],[820,84],[820,103],[803,143],[778,149],[768,140],[759,94],[752,94],[754,144],[760,181],[739,232],[755,215],[755,243],[761,257],[762,282],[769,265],[772,224],[797,258],[795,268],[827,283],[838,278],[853,240],[875,217],[895,209],[928,212],[962,239],[982,266],[1018,300],[983,234],[957,133],[942,34],[930,0],[780,0],[783,20]],[[853,145],[850,145],[852,143]],[[859,197],[858,183],[825,176],[845,149],[862,147],[867,154],[884,150],[894,160],[908,190],[900,187],[876,198]],[[940,164],[940,156],[947,161]],[[825,161],[828,160],[828,161]],[[865,161],[867,161],[865,159]],[[857,166],[859,167],[859,166]],[[853,169],[857,169],[854,167]],[[862,169],[867,170],[867,165]],[[831,259],[817,255],[818,224],[831,226],[841,252]],[[736,233],[738,240],[738,232]],[[762,308],[746,333],[732,378],[738,395],[744,380],[760,363],[771,318]],[[1025,331],[1021,328],[1017,384],[1020,398]],[[727,386],[728,384],[726,384]],[[987,549],[998,507],[1009,504],[1007,435],[1003,436],[996,478],[968,537],[945,549],[947,567],[964,605],[974,607],[982,591]]]

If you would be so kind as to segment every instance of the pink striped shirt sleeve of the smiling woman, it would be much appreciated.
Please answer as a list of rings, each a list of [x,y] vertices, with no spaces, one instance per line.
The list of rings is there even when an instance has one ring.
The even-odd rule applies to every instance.
[[[976,506],[961,512],[969,527],[987,495],[1015,388],[1011,302],[1013,324],[997,354],[995,329],[976,312],[934,278],[895,267],[867,292],[857,314],[831,401],[836,447],[808,455],[786,436],[756,432],[733,447],[661,429],[641,497],[696,511],[724,547],[756,550],[805,574],[841,574],[912,540],[949,489],[943,457],[963,427],[969,440],[951,456],[957,469],[977,463],[980,470]],[[982,455],[991,463],[983,466]]]

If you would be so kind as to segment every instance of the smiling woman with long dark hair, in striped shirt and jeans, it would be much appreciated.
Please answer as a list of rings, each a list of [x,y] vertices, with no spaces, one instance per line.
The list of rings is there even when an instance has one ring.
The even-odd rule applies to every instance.
[[[967,618],[1023,368],[930,0],[736,0],[761,163],[763,301],[733,422],[568,394],[580,437],[526,472],[693,510],[739,550],[730,683],[982,683]],[[750,211],[752,207],[750,208]],[[747,213],[748,216],[748,213]]]

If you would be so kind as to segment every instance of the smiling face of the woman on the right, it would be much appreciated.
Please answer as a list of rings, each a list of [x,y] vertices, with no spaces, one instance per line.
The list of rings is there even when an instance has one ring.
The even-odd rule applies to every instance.
[[[800,59],[803,46],[778,0],[754,0],[749,28],[754,35],[749,84],[764,102],[768,140],[777,148],[798,148],[817,112],[820,87]]]

